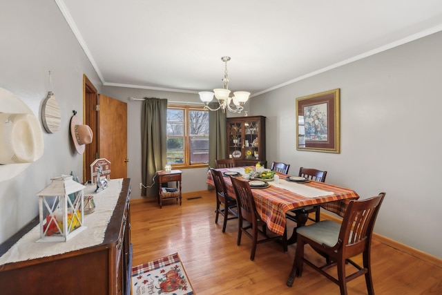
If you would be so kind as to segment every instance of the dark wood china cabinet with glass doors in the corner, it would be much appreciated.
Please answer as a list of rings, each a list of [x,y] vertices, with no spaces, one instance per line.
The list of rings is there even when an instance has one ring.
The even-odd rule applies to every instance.
[[[227,118],[227,158],[233,158],[238,166],[254,165],[265,159],[265,117]]]

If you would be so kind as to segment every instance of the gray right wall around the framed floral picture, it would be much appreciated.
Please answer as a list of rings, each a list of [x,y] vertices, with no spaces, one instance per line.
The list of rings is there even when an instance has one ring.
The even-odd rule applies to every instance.
[[[269,74],[270,75],[270,74]],[[374,231],[442,258],[442,32],[253,97],[267,160],[328,171],[361,198],[387,195]],[[296,150],[295,99],[340,88],[339,154]]]

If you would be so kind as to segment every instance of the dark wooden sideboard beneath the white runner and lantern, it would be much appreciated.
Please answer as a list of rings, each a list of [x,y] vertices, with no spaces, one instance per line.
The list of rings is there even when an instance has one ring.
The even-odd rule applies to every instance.
[[[130,183],[124,178],[101,244],[0,265],[0,294],[131,294]],[[36,218],[0,245],[0,256],[38,222]]]

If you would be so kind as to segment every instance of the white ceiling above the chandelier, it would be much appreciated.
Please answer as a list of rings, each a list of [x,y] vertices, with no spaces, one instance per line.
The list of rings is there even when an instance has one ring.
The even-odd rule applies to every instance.
[[[104,85],[264,93],[442,30],[441,0],[55,0]]]

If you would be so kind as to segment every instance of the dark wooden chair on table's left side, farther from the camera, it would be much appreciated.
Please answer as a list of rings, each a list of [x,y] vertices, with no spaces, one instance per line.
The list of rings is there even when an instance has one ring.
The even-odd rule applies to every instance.
[[[224,217],[224,220],[222,221],[222,232],[224,233],[227,227],[227,220],[238,218],[238,211],[234,210],[237,207],[237,204],[236,200],[227,193],[222,172],[213,168],[209,169],[212,174],[216,191],[215,223],[218,223],[218,216],[221,214]]]

